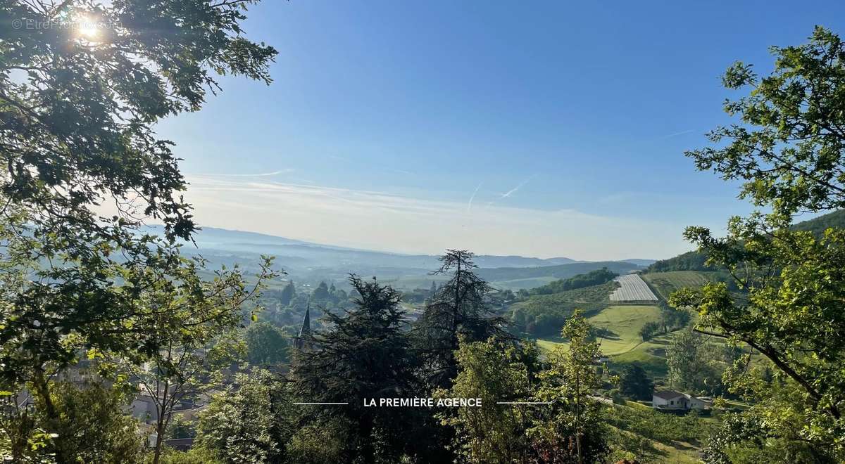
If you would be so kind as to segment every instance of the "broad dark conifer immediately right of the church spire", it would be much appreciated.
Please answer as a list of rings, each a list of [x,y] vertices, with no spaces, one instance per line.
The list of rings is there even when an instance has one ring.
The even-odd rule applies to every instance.
[[[341,461],[398,461],[409,446],[412,411],[365,407],[365,399],[414,396],[417,381],[401,294],[375,279],[349,278],[361,296],[341,315],[326,313],[328,329],[308,334],[310,347],[294,356],[292,386],[303,402],[348,402],[342,408],[305,407],[302,421],[314,427],[347,424]],[[340,422],[339,422],[340,421]],[[345,426],[345,427],[346,427]],[[323,444],[324,445],[324,444]]]

